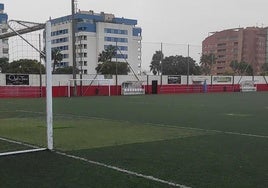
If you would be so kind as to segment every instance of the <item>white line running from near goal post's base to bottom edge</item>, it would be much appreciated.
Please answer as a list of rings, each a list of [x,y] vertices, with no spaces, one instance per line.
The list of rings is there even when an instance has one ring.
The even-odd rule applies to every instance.
[[[100,162],[97,162],[97,161],[92,161],[92,160],[85,159],[85,158],[82,158],[82,157],[77,157],[77,156],[74,156],[74,155],[69,155],[69,154],[66,154],[66,153],[63,153],[63,152],[59,152],[59,151],[54,151],[54,152],[59,154],[59,155],[65,156],[65,157],[69,157],[69,158],[72,158],[72,159],[84,161],[86,163],[90,163],[90,164],[97,165],[97,166],[102,166],[102,167],[109,168],[109,169],[112,169],[112,170],[115,170],[115,171],[119,171],[119,172],[122,172],[122,173],[125,173],[125,174],[128,174],[128,175],[133,175],[133,176],[141,177],[141,178],[148,179],[148,180],[151,180],[151,181],[163,183],[163,184],[166,184],[166,185],[169,185],[169,186],[179,187],[179,188],[191,188],[191,187],[188,187],[186,185],[181,185],[181,184],[177,184],[177,183],[174,183],[174,182],[162,180],[162,179],[159,179],[159,178],[156,178],[156,177],[153,177],[153,176],[140,174],[140,173],[133,172],[133,171],[130,171],[130,170],[126,170],[126,169],[123,169],[123,168],[119,168],[119,167],[116,167],[116,166],[107,165],[107,164],[104,164],[104,163],[100,163]]]

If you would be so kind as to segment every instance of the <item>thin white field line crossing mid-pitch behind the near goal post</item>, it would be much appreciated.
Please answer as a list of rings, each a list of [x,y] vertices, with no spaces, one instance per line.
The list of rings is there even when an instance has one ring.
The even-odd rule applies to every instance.
[[[35,113],[35,114],[45,114],[44,112],[33,112],[33,111],[26,111],[26,110],[17,110],[17,111],[26,112],[26,113]],[[114,120],[114,119],[108,119],[108,118],[99,118],[99,117],[83,116],[83,115],[73,115],[73,114],[55,114],[55,115],[56,116],[90,118],[90,119],[96,119],[96,120],[109,120],[109,121],[131,123],[130,121],[125,121],[125,120]],[[174,126],[174,125],[158,124],[158,123],[144,123],[144,124],[151,125],[151,126],[171,127],[171,128],[179,128],[179,129],[188,129],[188,130],[214,132],[214,133],[221,133],[221,134],[230,134],[230,135],[239,135],[239,136],[248,136],[248,137],[267,138],[268,139],[268,135],[257,135],[257,134],[239,133],[239,132],[232,132],[232,131],[220,131],[220,130],[214,130],[214,129],[202,129],[202,128],[195,128],[195,127]]]

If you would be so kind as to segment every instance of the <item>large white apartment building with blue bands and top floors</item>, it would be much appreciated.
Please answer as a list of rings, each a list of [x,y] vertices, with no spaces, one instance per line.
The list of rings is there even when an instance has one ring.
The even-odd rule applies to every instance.
[[[113,61],[127,61],[136,74],[141,72],[142,30],[136,26],[137,20],[93,11],[79,11],[75,20],[76,65],[83,74],[96,74],[98,56],[109,45],[117,45]],[[60,49],[63,54],[59,67],[73,65],[71,27],[71,16],[52,20],[52,48]]]

